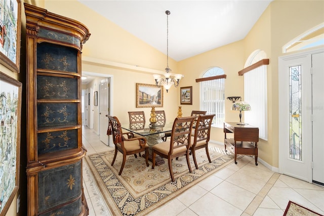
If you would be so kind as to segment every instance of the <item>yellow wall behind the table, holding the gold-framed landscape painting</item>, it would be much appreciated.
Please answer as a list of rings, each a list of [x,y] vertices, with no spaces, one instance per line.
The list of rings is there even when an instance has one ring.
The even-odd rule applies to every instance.
[[[65,1],[64,7],[61,7],[56,1],[45,1],[45,8],[52,13],[82,22],[90,29],[91,37],[84,44],[82,55],[84,59],[90,57],[96,60],[83,61],[82,70],[113,76],[113,115],[117,116],[120,122],[128,122],[128,111],[143,110],[145,116],[148,117],[150,108],[136,108],[136,83],[153,85],[155,83],[153,73],[147,72],[145,69],[164,73],[167,63],[166,55],[89,10],[78,1]],[[121,63],[125,67],[137,65],[139,69],[130,70],[123,66],[116,68],[109,62]],[[177,62],[169,58],[169,66],[176,73]],[[186,79],[183,78],[183,80]],[[168,105],[156,108],[156,110],[164,109],[167,118],[172,121],[177,116],[178,94],[180,94],[180,90],[174,87],[168,93],[164,90],[164,104]],[[175,105],[170,106],[170,104]]]

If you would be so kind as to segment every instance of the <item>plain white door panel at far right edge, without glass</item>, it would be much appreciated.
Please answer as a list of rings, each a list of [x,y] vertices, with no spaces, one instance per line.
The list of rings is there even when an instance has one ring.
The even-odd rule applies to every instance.
[[[312,55],[313,182],[324,185],[324,52]]]

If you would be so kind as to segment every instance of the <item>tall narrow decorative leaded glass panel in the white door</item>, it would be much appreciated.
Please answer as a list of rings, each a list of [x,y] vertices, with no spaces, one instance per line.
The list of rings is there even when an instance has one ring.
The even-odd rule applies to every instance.
[[[290,71],[290,158],[302,160],[301,121],[301,65],[291,66]]]

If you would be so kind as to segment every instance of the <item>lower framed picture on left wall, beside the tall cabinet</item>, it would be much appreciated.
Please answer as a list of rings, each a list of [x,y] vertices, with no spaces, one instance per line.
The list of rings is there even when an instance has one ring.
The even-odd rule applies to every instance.
[[[0,72],[0,215],[19,189],[21,86]]]

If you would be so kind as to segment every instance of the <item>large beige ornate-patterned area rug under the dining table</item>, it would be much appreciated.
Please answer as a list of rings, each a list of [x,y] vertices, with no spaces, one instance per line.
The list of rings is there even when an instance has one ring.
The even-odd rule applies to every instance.
[[[196,151],[198,169],[190,156],[191,173],[185,156],[174,159],[175,182],[171,181],[167,160],[152,169],[151,162],[146,167],[144,158],[130,155],[123,173],[118,175],[123,160],[119,152],[113,166],[110,164],[114,151],[87,155],[85,159],[112,214],[146,215],[233,161],[233,155],[217,145],[210,145],[209,152],[212,163],[209,163],[205,149]]]

